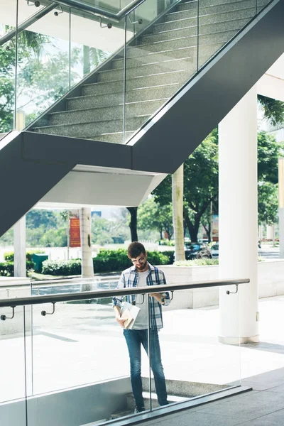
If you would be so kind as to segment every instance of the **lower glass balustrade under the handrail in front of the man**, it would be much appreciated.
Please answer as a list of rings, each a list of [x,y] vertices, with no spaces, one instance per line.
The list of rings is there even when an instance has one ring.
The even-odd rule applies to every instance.
[[[139,313],[130,322],[133,328],[123,329],[115,318],[114,290],[107,296],[99,290],[94,298],[92,292],[80,295],[77,286],[65,288],[75,293],[54,296],[53,286],[45,286],[49,292],[43,290],[43,299],[16,307],[13,318],[8,301],[0,307],[0,315],[7,317],[0,321],[0,417],[9,418],[7,425],[99,425],[141,415],[134,413],[139,401],[139,410],[147,415],[168,404],[198,404],[204,396],[241,384],[239,293],[227,295],[234,305],[235,335],[234,342],[224,344],[219,308],[200,307],[205,293],[218,300],[218,287],[163,293],[170,303],[162,307],[162,316],[153,295],[124,297],[136,301],[128,308]],[[93,290],[91,286],[84,282],[84,290]],[[235,291],[233,286],[222,288],[228,289]]]

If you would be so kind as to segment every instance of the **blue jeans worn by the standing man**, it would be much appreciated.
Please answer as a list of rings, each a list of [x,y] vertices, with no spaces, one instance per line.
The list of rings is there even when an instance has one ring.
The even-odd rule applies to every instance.
[[[130,376],[133,395],[138,410],[144,407],[142,396],[142,379],[141,379],[141,344],[148,355],[148,329],[124,329],[124,337],[129,349],[130,359]],[[160,343],[158,331],[150,331],[151,345],[151,368],[155,381],[155,391],[158,396],[160,405],[167,405],[167,390],[165,388],[165,375],[163,371],[162,361],[160,359]]]

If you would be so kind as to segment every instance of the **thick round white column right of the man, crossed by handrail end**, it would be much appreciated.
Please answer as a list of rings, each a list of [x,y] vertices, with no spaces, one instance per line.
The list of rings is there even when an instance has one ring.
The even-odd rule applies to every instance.
[[[257,104],[253,87],[219,124],[220,342],[258,342]]]

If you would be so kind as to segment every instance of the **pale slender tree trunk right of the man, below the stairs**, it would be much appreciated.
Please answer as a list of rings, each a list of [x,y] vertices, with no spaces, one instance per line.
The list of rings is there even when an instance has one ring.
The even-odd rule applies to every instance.
[[[175,235],[175,260],[185,260],[183,238],[183,164],[172,176],[173,232]]]

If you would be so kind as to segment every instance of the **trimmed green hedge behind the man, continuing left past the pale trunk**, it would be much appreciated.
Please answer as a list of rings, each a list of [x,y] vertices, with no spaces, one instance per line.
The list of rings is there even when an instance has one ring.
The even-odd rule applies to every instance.
[[[148,251],[148,261],[153,265],[168,265],[173,263],[171,260],[173,251],[170,255],[160,253],[160,251]],[[107,273],[124,271],[132,265],[127,257],[127,250],[106,250],[99,251],[97,257],[93,258],[94,273]],[[46,275],[80,275],[81,274],[81,260],[71,261],[44,261],[43,274]]]

